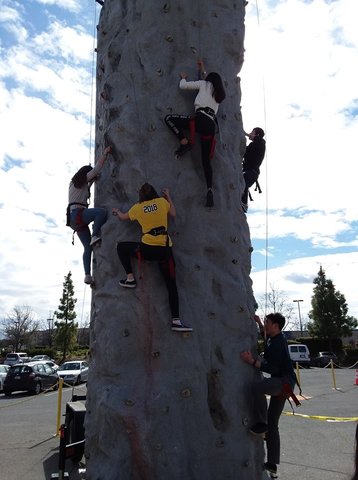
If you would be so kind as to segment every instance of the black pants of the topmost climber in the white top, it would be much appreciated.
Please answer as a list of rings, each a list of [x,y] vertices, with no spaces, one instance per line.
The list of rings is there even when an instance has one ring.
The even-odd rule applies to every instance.
[[[176,135],[178,140],[186,138],[183,130],[189,130],[190,128],[189,115],[167,115],[164,119],[169,129]],[[195,114],[195,131],[202,136],[214,137],[215,135],[215,122],[205,113],[197,112]],[[211,138],[201,138],[201,163],[204,169],[204,175],[206,180],[206,186],[212,188],[213,186],[213,169],[211,168],[210,151],[211,151]]]

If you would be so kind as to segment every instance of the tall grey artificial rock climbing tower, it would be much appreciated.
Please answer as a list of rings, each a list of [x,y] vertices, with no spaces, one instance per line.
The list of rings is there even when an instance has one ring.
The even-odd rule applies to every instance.
[[[127,211],[148,181],[168,187],[177,208],[174,242],[181,319],[170,330],[167,292],[155,264],[124,272],[116,243],[139,240],[138,224],[110,216],[94,251],[91,354],[86,416],[90,480],[261,478],[262,442],[247,430],[253,369],[239,359],[256,343],[250,314],[251,243],[241,210],[240,113],[244,1],[105,0],[98,25],[96,151],[113,145],[95,205]],[[196,60],[221,74],[214,170],[215,207],[206,209],[200,147],[175,159],[170,112],[193,113]],[[198,142],[197,142],[198,143]],[[141,278],[139,278],[141,277]]]

